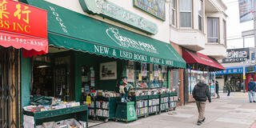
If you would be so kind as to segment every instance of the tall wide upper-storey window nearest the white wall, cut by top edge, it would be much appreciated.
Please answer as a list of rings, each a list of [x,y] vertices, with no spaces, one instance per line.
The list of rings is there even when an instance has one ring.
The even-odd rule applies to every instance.
[[[179,1],[179,16],[181,27],[192,26],[192,0]]]

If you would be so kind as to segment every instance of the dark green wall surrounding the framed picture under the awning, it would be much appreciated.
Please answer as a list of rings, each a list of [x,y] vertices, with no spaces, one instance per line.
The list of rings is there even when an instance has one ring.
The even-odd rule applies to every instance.
[[[117,61],[118,79],[122,78],[122,63],[125,62],[120,59],[102,57],[96,54],[87,54],[82,52],[74,53],[74,82],[75,92],[74,97],[76,102],[80,102],[82,96],[82,74],[81,66],[93,66],[95,70],[95,87],[96,90],[117,90],[118,79],[114,80],[99,80],[99,71],[101,62],[114,62]],[[121,76],[121,77],[120,77]],[[118,81],[118,82],[117,82]]]

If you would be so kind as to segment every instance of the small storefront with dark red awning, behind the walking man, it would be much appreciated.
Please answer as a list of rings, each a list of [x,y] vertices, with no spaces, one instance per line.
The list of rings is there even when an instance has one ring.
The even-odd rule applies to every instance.
[[[200,78],[206,79],[206,84],[209,86],[210,92],[213,95],[215,92],[214,82],[215,76],[211,74],[213,71],[225,70],[225,68],[220,65],[213,58],[210,58],[204,54],[198,52],[183,49],[182,58],[186,61],[186,77],[185,82],[185,101],[194,101],[192,98],[192,91],[194,86],[199,82]]]

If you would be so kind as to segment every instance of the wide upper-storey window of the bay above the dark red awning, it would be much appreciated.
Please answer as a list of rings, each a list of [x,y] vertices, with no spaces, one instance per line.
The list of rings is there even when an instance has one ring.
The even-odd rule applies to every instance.
[[[208,42],[218,43],[218,18],[207,18],[208,21]]]

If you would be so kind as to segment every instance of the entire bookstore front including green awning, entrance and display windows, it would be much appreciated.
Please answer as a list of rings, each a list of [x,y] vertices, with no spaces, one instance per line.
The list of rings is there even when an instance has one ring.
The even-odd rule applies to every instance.
[[[152,107],[146,106],[146,112],[165,107],[165,104],[159,105],[158,94],[174,91],[168,88],[170,70],[186,68],[186,62],[170,44],[50,2],[28,2],[48,10],[50,46],[50,54],[32,60],[31,94],[61,98],[65,102],[90,101],[90,115],[114,118],[112,102],[121,101],[119,86],[122,78],[127,77],[133,86],[131,97],[144,96],[145,101],[152,98]],[[156,97],[148,96],[154,94]],[[91,96],[89,101],[87,96]],[[136,101],[136,98],[130,100]],[[154,105],[156,102],[158,105]],[[165,103],[174,106],[169,98]]]

